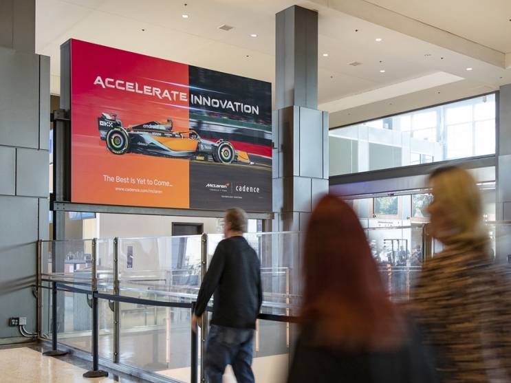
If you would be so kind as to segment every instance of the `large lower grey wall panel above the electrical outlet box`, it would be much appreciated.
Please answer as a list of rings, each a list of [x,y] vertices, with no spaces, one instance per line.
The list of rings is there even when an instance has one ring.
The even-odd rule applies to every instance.
[[[0,322],[25,316],[34,331],[36,300],[30,285],[36,282],[38,199],[0,196]],[[9,309],[8,309],[9,308]],[[17,327],[0,326],[0,338],[19,336]]]

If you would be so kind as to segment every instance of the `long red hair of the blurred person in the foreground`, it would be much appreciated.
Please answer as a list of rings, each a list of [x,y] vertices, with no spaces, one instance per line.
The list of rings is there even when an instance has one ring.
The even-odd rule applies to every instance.
[[[305,235],[302,326],[314,342],[347,351],[402,344],[404,321],[384,291],[355,212],[338,197],[320,200]]]

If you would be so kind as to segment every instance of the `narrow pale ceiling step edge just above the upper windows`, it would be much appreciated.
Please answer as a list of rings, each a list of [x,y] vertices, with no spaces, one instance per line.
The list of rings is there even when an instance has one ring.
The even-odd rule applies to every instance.
[[[392,84],[387,87],[381,87],[364,93],[355,94],[354,96],[341,98],[340,100],[325,102],[324,104],[318,105],[318,109],[333,113],[335,111],[342,111],[345,109],[359,107],[360,105],[370,104],[371,102],[378,102],[389,98],[403,96],[415,91],[422,91],[424,89],[455,83],[460,80],[464,80],[464,78],[454,76],[453,74],[437,72],[419,78],[413,78],[412,80],[402,81],[401,83]]]

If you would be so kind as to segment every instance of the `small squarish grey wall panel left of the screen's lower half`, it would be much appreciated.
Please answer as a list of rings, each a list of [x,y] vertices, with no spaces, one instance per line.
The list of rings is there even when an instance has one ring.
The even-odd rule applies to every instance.
[[[48,197],[50,166],[48,152],[17,149],[16,195]]]

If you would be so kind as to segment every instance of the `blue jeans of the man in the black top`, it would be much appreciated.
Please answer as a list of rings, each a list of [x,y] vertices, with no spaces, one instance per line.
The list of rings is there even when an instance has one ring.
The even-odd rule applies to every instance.
[[[206,340],[204,369],[209,383],[221,383],[230,364],[238,383],[254,383],[252,343],[254,330],[211,325]]]

